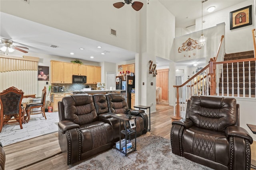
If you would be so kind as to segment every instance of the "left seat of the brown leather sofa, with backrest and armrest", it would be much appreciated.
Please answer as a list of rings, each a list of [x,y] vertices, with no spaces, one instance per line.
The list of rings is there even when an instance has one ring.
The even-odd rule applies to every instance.
[[[112,126],[98,121],[92,95],[65,96],[58,112],[59,144],[68,165],[112,147]]]

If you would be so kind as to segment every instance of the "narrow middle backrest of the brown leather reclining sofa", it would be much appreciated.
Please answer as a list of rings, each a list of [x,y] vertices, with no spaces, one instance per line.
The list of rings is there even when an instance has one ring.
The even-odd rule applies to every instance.
[[[108,113],[108,101],[105,94],[94,94],[93,100],[98,115]]]

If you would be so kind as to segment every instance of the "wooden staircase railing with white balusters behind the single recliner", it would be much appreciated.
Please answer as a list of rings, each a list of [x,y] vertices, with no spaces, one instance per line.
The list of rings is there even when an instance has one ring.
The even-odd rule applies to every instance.
[[[180,113],[186,112],[186,102],[194,95],[255,98],[255,55],[254,58],[251,59],[216,62],[223,38],[224,36],[222,35],[216,57],[211,58],[208,65],[202,68],[202,70],[197,72],[182,85],[173,86],[175,90],[174,94],[176,92],[176,96],[174,98],[174,101],[176,102],[174,103],[174,115],[171,116],[172,120],[181,119],[185,116],[180,116]],[[241,70],[242,72],[239,73]],[[247,73],[248,80],[246,80]],[[229,77],[231,77],[231,81],[229,81]],[[182,96],[179,96],[180,90],[183,92]],[[180,98],[182,98],[183,101],[181,103]]]

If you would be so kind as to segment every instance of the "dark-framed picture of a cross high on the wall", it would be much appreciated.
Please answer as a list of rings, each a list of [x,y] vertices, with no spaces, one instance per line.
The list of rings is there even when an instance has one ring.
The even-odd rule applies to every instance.
[[[252,5],[230,12],[230,30],[252,25]]]

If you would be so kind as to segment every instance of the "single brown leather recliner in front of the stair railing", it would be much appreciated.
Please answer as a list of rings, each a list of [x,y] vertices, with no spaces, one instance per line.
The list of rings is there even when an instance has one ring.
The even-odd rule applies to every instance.
[[[234,98],[192,96],[186,118],[172,122],[172,153],[213,169],[250,170],[252,142]]]

